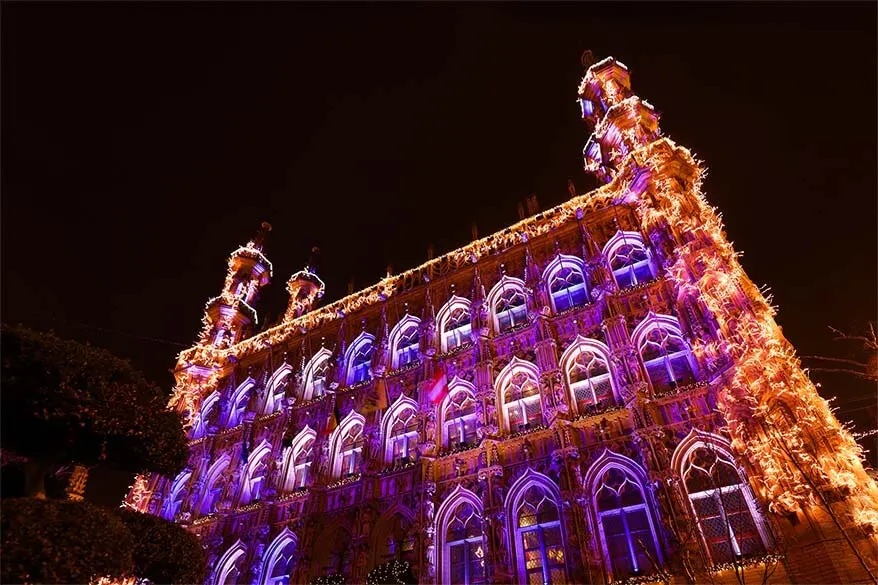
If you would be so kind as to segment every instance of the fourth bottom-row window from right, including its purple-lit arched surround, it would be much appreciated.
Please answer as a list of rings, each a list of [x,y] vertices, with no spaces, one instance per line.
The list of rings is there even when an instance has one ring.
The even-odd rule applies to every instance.
[[[481,585],[485,575],[482,541],[482,503],[463,487],[456,487],[436,516],[441,538],[440,583]]]

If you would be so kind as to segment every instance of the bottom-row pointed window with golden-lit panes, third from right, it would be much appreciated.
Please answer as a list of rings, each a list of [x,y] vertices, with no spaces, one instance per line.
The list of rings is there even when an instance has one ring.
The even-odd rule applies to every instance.
[[[515,508],[516,550],[525,583],[566,583],[558,505],[538,485],[529,487]]]

